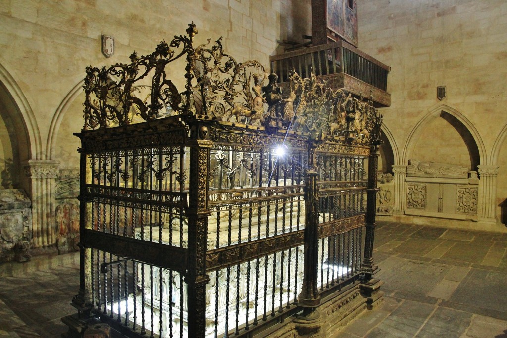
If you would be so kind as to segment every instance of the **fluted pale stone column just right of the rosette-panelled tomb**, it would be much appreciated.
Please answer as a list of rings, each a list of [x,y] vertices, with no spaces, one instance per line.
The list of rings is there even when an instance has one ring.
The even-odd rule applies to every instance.
[[[479,220],[496,223],[496,175],[497,166],[479,168]]]

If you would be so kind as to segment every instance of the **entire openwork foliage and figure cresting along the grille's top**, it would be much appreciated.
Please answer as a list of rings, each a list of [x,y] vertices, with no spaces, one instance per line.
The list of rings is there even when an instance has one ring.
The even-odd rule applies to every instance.
[[[382,116],[370,99],[332,90],[315,74],[302,79],[292,73],[288,93],[277,86],[255,60],[238,63],[224,52],[222,37],[209,47],[193,47],[195,25],[188,35],[161,42],[150,55],[109,68],[86,68],[84,129],[128,125],[168,115],[283,127],[323,135],[345,136],[359,142],[377,140]],[[168,78],[168,65],[185,56],[185,90]],[[268,80],[266,84],[266,80]],[[232,122],[231,121],[231,122]]]

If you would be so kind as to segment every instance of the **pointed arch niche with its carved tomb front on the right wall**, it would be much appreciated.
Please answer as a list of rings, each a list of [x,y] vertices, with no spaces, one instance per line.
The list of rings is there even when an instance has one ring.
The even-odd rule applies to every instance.
[[[413,216],[481,220],[491,222],[491,179],[484,164],[487,162],[484,142],[474,125],[459,111],[441,105],[429,111],[409,135],[402,162],[395,166],[404,176],[403,193],[395,212]],[[409,160],[456,165],[470,174],[469,178],[406,176]],[[419,177],[421,176],[421,177]],[[458,226],[457,223],[453,223]],[[489,225],[489,224],[488,224]],[[475,226],[470,226],[475,227]]]

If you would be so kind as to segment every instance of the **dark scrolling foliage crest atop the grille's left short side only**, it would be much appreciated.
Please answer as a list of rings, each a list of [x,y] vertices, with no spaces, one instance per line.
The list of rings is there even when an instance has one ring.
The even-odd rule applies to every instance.
[[[190,37],[180,35],[170,43],[162,41],[150,55],[139,57],[134,52],[130,64],[119,63],[101,69],[86,67],[84,129],[128,125],[135,115],[149,121],[160,117],[164,109],[185,111],[190,97],[191,74],[187,71],[187,90],[180,94],[167,78],[166,66],[193,53],[192,40],[196,32],[195,25],[189,24],[187,33]],[[150,78],[149,74],[151,79],[144,80]],[[149,92],[141,99],[136,94],[144,88]],[[187,98],[185,103],[182,95]]]

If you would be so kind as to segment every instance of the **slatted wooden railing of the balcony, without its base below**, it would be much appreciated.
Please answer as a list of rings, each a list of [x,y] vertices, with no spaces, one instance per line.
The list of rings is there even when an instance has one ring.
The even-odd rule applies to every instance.
[[[387,90],[390,67],[361,52],[354,46],[338,41],[270,57],[271,69],[280,83],[288,81],[294,69],[301,77],[345,73],[380,90]]]

